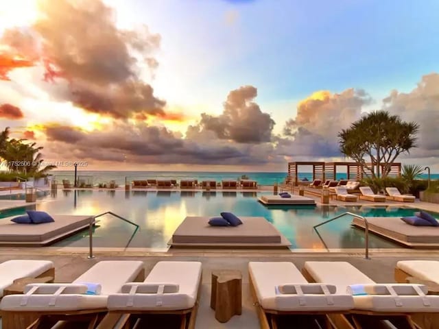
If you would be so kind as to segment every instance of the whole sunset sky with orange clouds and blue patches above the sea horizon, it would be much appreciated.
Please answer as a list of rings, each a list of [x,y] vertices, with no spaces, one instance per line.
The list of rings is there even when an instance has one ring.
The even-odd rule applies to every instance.
[[[83,170],[285,171],[345,160],[372,110],[439,172],[439,1],[15,0],[0,128]],[[71,167],[58,167],[69,170]]]

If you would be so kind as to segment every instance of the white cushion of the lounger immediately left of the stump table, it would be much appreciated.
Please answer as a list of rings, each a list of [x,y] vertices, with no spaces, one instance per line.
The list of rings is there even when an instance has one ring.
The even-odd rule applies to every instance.
[[[110,310],[184,310],[195,305],[201,281],[200,262],[158,262],[144,283],[157,284],[158,293],[141,293],[141,284],[130,284],[130,293],[115,293],[108,297]],[[163,282],[173,282],[178,292],[165,293]],[[162,290],[160,286],[163,286]],[[139,289],[139,290],[138,290]],[[124,289],[124,291],[126,291]]]

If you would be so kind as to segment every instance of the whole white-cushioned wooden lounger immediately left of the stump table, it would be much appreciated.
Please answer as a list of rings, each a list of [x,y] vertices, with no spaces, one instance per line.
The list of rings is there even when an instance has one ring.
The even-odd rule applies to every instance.
[[[202,265],[200,262],[158,262],[143,283],[125,284],[120,293],[108,296],[107,318],[123,314],[123,321],[98,329],[132,328],[140,319],[145,328],[195,328],[200,298]],[[159,326],[156,326],[159,324]]]

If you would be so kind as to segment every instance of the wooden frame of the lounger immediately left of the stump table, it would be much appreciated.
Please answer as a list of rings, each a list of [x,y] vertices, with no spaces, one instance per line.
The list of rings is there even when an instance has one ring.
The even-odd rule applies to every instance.
[[[197,299],[191,308],[186,308],[184,310],[132,310],[130,313],[127,313],[127,310],[110,310],[96,329],[137,328],[137,321],[154,315],[180,316],[178,329],[195,329],[195,320],[197,317],[198,305],[200,304],[201,289],[202,273],[200,276],[200,283],[198,284]]]

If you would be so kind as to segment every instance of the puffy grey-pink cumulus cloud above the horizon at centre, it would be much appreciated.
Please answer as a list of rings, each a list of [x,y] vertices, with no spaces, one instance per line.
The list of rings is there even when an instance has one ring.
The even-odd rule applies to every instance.
[[[201,114],[202,130],[215,132],[219,139],[229,139],[237,143],[270,142],[274,121],[270,114],[263,113],[253,99],[257,88],[243,86],[230,91],[224,103],[224,112],[215,117]]]

